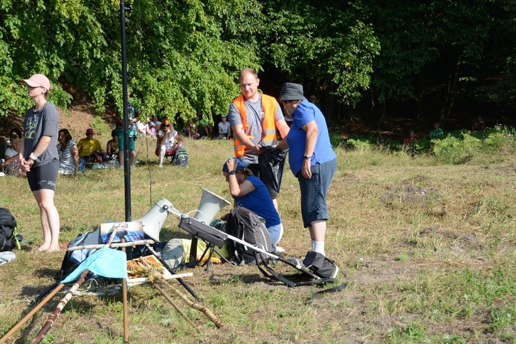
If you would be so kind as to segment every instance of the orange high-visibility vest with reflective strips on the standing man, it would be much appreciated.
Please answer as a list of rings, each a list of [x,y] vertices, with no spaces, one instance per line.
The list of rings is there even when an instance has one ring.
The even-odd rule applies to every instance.
[[[242,128],[244,129],[246,135],[250,138],[251,136],[248,133],[244,96],[237,97],[235,100],[233,100],[233,104],[235,104],[235,107],[237,107],[237,110],[242,118]],[[264,133],[264,138],[261,140],[261,142],[264,142],[268,146],[278,144],[278,138],[276,135],[276,111],[278,109],[278,102],[274,97],[261,94],[261,109],[263,109],[265,114],[264,120],[261,122],[261,127]],[[235,133],[233,133],[233,144],[235,146],[235,156],[238,158],[244,155],[246,146],[241,144]]]

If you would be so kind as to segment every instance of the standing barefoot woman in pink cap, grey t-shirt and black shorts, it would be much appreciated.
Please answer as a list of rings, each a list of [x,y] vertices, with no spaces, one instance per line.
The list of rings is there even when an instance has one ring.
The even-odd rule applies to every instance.
[[[59,155],[56,144],[59,131],[59,114],[56,107],[47,101],[50,81],[43,74],[34,74],[22,80],[27,84],[34,107],[25,112],[23,139],[19,159],[21,169],[27,172],[32,195],[39,206],[43,245],[39,251],[59,250],[59,214],[54,205]]]

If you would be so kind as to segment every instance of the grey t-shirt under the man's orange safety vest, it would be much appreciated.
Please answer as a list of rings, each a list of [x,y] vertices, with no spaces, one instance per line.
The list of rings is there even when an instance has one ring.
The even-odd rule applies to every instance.
[[[264,110],[261,107],[261,94],[259,94],[258,100],[256,102],[245,100],[244,105],[246,105],[248,125],[246,133],[248,134],[248,136],[251,136],[250,140],[252,143],[259,144],[261,140],[264,138],[264,129],[262,127],[262,123],[264,122],[265,116]],[[283,117],[281,107],[279,107],[278,104],[276,110],[276,121],[283,119],[285,118]],[[238,112],[235,103],[231,103],[231,105],[229,106],[228,120],[230,127],[242,124],[242,117]],[[242,160],[250,164],[257,164],[258,155],[255,151],[251,151],[250,149],[246,148],[246,150],[244,151],[244,156],[242,156]]]

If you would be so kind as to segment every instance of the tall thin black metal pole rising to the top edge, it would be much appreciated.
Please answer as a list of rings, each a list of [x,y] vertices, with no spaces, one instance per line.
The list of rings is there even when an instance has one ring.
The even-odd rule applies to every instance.
[[[131,162],[129,156],[129,118],[127,117],[127,54],[125,53],[125,10],[131,12],[132,6],[125,8],[120,0],[120,30],[122,39],[122,97],[124,101],[124,185],[125,221],[131,221]]]

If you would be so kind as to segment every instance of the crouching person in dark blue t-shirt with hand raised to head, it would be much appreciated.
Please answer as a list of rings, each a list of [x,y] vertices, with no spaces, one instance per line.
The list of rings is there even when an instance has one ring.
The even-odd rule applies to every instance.
[[[272,203],[267,186],[255,175],[252,175],[247,166],[247,162],[243,160],[230,158],[222,168],[222,173],[229,184],[229,192],[235,200],[235,207],[244,206],[263,217],[266,221],[272,248],[275,252],[285,252],[283,248],[276,246],[283,237],[283,224],[281,224],[279,214]]]

